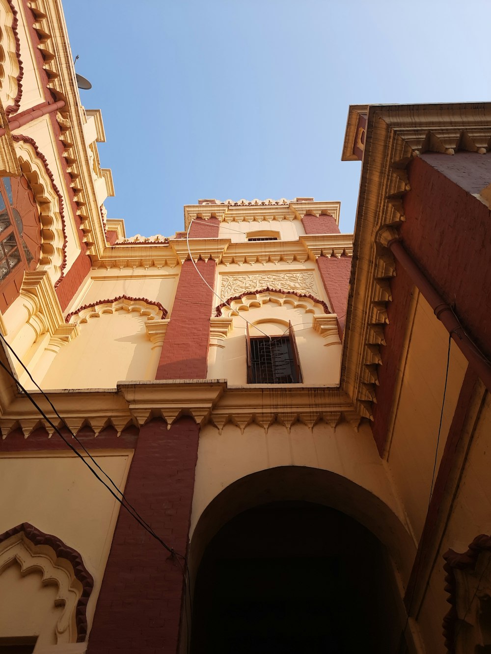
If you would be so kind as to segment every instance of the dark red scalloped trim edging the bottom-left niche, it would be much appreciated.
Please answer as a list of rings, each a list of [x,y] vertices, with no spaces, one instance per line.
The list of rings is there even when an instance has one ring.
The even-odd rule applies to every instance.
[[[75,577],[82,585],[82,594],[75,609],[75,624],[77,625],[77,643],[84,642],[87,635],[87,602],[94,588],[94,579],[84,566],[81,555],[73,547],[65,545],[60,538],[52,536],[52,534],[45,534],[45,532],[33,525],[29,525],[29,523],[22,523],[22,525],[12,527],[12,529],[0,534],[0,543],[5,542],[12,536],[16,536],[16,534],[24,534],[33,545],[48,545],[54,549],[58,559],[65,559],[71,564]]]

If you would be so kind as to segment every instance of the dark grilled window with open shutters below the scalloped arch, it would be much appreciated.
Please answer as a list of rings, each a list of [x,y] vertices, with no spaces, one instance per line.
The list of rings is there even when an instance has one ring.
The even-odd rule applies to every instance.
[[[299,351],[290,326],[285,336],[250,337],[247,325],[247,383],[302,383]]]

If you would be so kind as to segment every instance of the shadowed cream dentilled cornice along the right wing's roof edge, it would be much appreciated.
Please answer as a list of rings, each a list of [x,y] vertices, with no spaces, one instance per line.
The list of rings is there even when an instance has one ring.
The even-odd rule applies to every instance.
[[[357,112],[356,107],[350,109],[350,115]],[[353,246],[357,264],[348,298],[341,374],[342,387],[364,417],[372,417],[378,383],[379,348],[384,343],[390,279],[395,274],[393,255],[386,246],[398,238],[397,230],[405,220],[407,164],[427,150],[484,152],[490,143],[491,103],[373,106],[367,111],[359,227]]]

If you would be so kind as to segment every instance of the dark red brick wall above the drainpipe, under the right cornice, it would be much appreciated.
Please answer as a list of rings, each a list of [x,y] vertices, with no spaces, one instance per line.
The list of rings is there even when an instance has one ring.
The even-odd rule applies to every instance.
[[[486,155],[475,154],[481,156]],[[448,156],[452,175],[458,157],[459,153]],[[468,160],[465,156],[460,160],[462,179]],[[482,290],[491,288],[491,211],[430,161],[418,157],[409,165],[403,242],[427,279],[455,308],[467,334],[490,356],[491,311],[489,302],[482,301]],[[436,163],[443,169],[441,158]]]

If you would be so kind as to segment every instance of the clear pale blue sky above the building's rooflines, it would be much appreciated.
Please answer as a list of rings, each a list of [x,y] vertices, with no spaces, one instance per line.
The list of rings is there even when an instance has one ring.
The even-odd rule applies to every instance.
[[[172,235],[183,205],[314,196],[354,227],[350,104],[491,95],[489,0],[65,0],[87,109],[101,109],[109,218]]]

